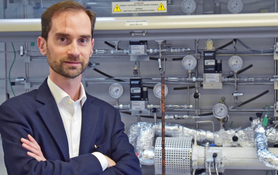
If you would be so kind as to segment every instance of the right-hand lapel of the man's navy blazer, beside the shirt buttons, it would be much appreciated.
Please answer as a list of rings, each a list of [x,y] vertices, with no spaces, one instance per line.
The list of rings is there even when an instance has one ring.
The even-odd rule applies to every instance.
[[[100,108],[94,104],[93,97],[88,93],[86,93],[86,97],[87,99],[82,106],[79,155],[90,153],[100,113]]]

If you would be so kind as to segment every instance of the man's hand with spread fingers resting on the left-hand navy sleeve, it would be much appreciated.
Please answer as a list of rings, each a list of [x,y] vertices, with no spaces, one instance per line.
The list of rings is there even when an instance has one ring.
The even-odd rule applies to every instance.
[[[29,140],[24,139],[24,138],[20,139],[20,141],[22,142],[23,148],[26,148],[27,150],[31,151],[31,152],[28,151],[27,155],[35,158],[38,162],[45,161],[46,159],[43,156],[43,152],[41,152],[41,147],[39,146],[37,141],[30,134],[28,134],[27,137]]]

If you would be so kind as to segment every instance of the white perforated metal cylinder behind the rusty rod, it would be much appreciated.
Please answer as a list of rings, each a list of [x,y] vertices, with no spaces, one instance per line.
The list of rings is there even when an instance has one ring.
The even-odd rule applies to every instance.
[[[162,174],[161,137],[155,144],[154,167],[156,174]],[[191,143],[192,138],[165,137],[165,172],[169,175],[191,174]]]

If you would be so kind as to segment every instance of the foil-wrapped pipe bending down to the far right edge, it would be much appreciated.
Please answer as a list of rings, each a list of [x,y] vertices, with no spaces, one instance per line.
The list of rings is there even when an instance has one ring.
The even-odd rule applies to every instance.
[[[278,170],[278,156],[271,154],[267,147],[267,137],[265,129],[258,123],[254,127],[255,147],[257,150],[258,160],[265,164],[265,166],[275,168]]]

